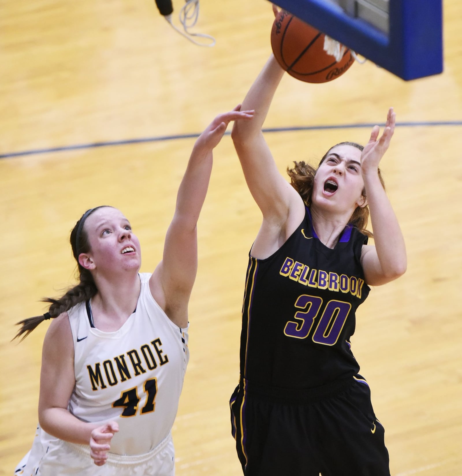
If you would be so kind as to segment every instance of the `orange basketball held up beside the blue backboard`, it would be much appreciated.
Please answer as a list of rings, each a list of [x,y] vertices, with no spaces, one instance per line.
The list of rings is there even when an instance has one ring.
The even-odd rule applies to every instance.
[[[281,68],[294,78],[325,83],[341,76],[354,62],[351,51],[343,45],[340,61],[328,54],[324,50],[325,36],[288,11],[280,10],[271,30],[271,48]]]

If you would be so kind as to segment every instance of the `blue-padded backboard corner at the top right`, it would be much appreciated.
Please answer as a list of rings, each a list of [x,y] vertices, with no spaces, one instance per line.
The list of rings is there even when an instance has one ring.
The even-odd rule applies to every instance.
[[[273,3],[402,79],[442,72],[442,0]]]

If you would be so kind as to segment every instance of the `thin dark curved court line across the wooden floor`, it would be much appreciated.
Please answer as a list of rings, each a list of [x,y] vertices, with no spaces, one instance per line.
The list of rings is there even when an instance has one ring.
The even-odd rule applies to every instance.
[[[380,123],[362,123],[362,124],[338,124],[331,126],[296,126],[296,127],[275,127],[264,128],[263,132],[298,132],[307,130],[328,130],[328,129],[370,129],[375,125],[383,127],[385,124]],[[462,120],[454,121],[422,121],[422,122],[399,122],[396,124],[398,127],[439,127],[439,126],[462,126]],[[226,135],[230,135],[231,132],[225,132]],[[68,150],[79,149],[96,149],[98,147],[110,147],[110,146],[123,146],[128,144],[141,144],[143,142],[163,142],[167,140],[177,139],[195,139],[199,137],[197,134],[176,134],[171,136],[158,136],[158,137],[144,137],[140,139],[125,139],[125,140],[111,140],[107,142],[93,142],[89,144],[74,144],[70,146],[51,147],[46,149],[31,149],[20,150],[18,152],[7,152],[6,154],[0,154],[0,159],[10,159],[12,157],[23,157],[26,155],[39,155],[50,154],[53,152],[63,152]]]

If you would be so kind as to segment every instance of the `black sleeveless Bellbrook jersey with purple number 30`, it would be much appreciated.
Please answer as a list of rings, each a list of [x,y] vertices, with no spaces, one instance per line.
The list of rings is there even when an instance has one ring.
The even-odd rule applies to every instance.
[[[367,237],[345,227],[321,243],[310,210],[269,258],[249,254],[242,306],[241,377],[256,386],[319,387],[359,372],[350,337],[368,296],[360,263]]]

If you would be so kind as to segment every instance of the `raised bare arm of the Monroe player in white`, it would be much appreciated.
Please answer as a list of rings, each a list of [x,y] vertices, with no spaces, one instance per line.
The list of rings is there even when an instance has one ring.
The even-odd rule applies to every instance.
[[[218,115],[194,144],[167,230],[163,258],[150,280],[152,295],[179,327],[188,325],[187,306],[197,272],[197,221],[209,186],[212,150],[230,121],[251,119],[253,111],[239,109],[241,105]]]

